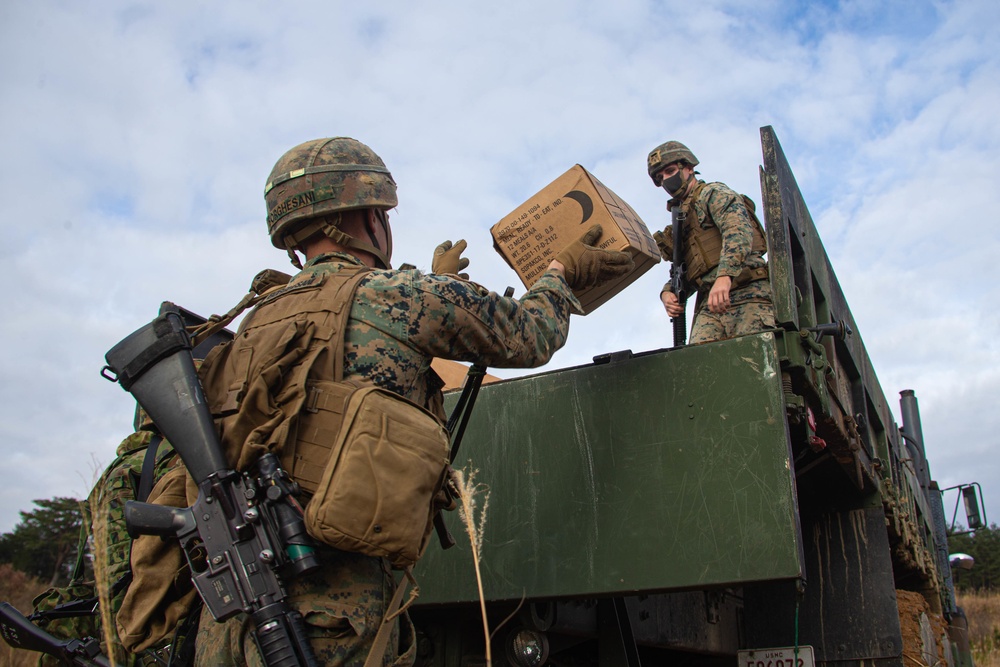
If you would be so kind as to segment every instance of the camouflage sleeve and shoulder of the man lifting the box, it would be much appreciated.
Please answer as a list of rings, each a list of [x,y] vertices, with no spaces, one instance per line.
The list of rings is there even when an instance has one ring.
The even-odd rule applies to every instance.
[[[582,313],[566,281],[543,275],[520,299],[417,270],[373,271],[358,287],[345,345],[345,378],[425,404],[436,392],[431,359],[500,368],[541,366]]]

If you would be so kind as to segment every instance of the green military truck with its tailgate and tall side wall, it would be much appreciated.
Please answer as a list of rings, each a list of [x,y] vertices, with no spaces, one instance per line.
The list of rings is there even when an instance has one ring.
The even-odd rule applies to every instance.
[[[897,427],[761,139],[776,330],[482,388],[456,464],[490,491],[494,665],[971,664],[916,398]],[[447,521],[458,545],[416,571],[418,664],[485,665],[469,540]]]

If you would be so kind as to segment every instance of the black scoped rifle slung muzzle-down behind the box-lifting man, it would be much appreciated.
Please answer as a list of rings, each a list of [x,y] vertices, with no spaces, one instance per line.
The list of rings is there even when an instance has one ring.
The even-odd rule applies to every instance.
[[[101,375],[149,414],[198,484],[198,499],[187,508],[129,501],[129,534],[176,537],[215,620],[249,615],[264,664],[318,665],[284,587],[286,579],[319,567],[295,500],[298,485],[274,454],[260,458],[256,474],[229,467],[190,338],[172,306],[165,303],[159,317],[111,348]]]

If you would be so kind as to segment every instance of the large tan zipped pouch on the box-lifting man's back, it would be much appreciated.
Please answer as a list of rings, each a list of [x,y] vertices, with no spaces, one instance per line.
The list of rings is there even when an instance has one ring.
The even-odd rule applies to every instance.
[[[337,383],[315,384],[332,390]],[[314,410],[301,415],[300,439],[310,439],[313,424],[329,423],[323,406]],[[337,549],[413,565],[427,547],[445,481],[448,432],[427,410],[378,387],[354,391],[343,420],[306,506],[306,528]]]

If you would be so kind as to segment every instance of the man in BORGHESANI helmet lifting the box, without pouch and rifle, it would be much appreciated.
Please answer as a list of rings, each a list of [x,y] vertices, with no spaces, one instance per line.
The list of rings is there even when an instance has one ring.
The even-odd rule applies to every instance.
[[[599,284],[632,268],[627,253],[593,246],[600,235],[595,225],[561,252],[519,300],[457,275],[443,275],[464,268],[464,244],[439,247],[434,270],[442,275],[393,271],[387,211],[396,206],[396,184],[374,151],[344,137],[308,141],[285,153],[268,178],[265,200],[272,244],[286,250],[301,271],[245,318],[228,365],[212,370],[211,356],[206,360],[203,380],[215,374],[205,387],[210,405],[220,398],[212,395],[219,386],[232,387],[234,401],[249,402],[247,378],[266,375],[260,360],[291,355],[298,359],[296,364],[311,360],[311,380],[339,380],[342,375],[344,381],[374,384],[443,419],[443,383],[431,369],[433,357],[500,367],[540,366],[565,343],[570,313],[582,313],[571,289]],[[305,256],[304,265],[296,253]],[[354,292],[342,289],[359,274]],[[329,324],[338,321],[344,306],[346,325],[338,339]],[[277,317],[276,312],[283,315]],[[241,339],[261,340],[260,331],[266,327],[281,334],[273,338],[277,345],[241,350]],[[338,340],[344,341],[340,349],[332,344]],[[272,376],[278,378],[273,391],[284,396],[287,376],[293,376],[296,367],[280,368]],[[254,406],[236,409],[252,411]],[[232,447],[223,435],[230,462],[238,469],[251,465],[252,445],[259,448],[260,443],[248,439]],[[293,471],[284,459],[282,465]],[[385,559],[325,545],[317,555],[322,567],[294,579],[289,600],[301,612],[322,664],[361,665],[395,587],[390,568]],[[402,627],[398,620],[391,621],[392,638],[378,664],[412,664],[412,626],[405,615],[402,618]],[[246,631],[240,617],[223,624],[203,617],[196,663],[259,661]]]

